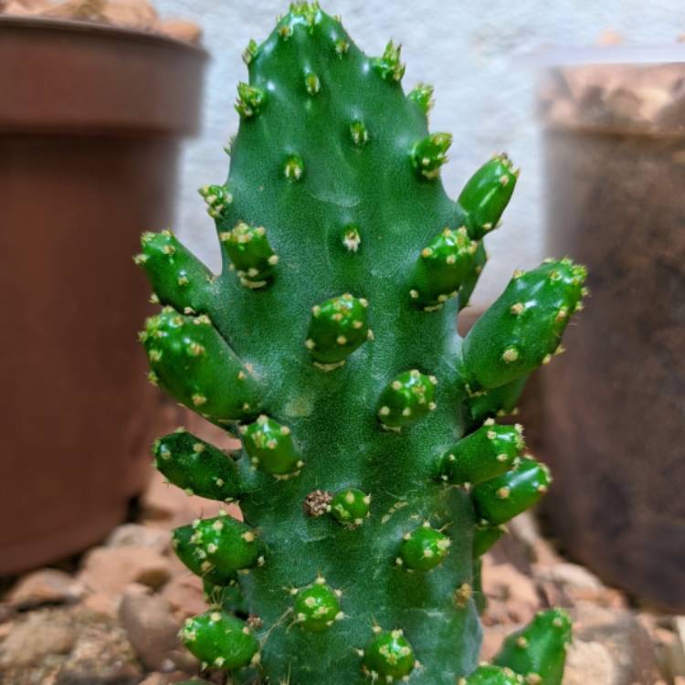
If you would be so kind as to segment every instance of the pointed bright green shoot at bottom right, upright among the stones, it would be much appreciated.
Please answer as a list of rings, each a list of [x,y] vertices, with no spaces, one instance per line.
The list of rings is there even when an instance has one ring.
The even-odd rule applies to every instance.
[[[541,611],[505,638],[494,663],[519,673],[525,683],[562,685],[571,639],[571,618],[563,609]]]

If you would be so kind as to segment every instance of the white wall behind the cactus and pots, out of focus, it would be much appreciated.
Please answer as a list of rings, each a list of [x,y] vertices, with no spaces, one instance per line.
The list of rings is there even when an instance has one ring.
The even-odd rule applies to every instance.
[[[248,39],[263,40],[287,0],[156,0],[163,16],[204,26],[213,55],[207,73],[204,128],[187,144],[176,226],[182,239],[213,268],[218,248],[213,223],[196,188],[221,183],[228,159],[222,145],[237,129],[236,84],[246,78],[240,55]],[[506,150],[522,166],[504,226],[487,239],[490,264],[474,297],[476,306],[496,296],[516,268],[543,258],[543,208],[534,70],[525,55],[547,46],[587,46],[606,30],[631,43],[671,44],[685,32],[682,0],[327,0],[367,54],[388,38],[403,44],[405,88],[424,80],[436,87],[433,131],[453,132],[451,162],[443,172],[450,195],[491,153]]]

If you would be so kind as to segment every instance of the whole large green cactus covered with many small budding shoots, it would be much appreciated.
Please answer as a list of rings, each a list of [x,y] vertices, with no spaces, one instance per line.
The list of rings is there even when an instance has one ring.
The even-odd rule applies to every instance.
[[[495,418],[561,351],[585,270],[516,273],[461,341],[511,161],[449,199],[432,89],[406,95],[400,47],[366,57],[318,5],[291,5],[244,59],[228,179],[201,190],[221,273],[169,231],[135,258],[162,305],[151,380],[242,441],[154,447],[171,482],[245,516],[174,532],[212,604],[184,642],[237,683],[453,685],[477,667],[479,556],[550,480]],[[522,660],[470,681],[513,682]]]

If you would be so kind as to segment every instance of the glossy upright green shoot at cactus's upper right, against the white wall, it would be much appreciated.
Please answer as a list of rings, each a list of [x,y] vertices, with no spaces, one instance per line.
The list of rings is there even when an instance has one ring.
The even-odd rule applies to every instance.
[[[469,216],[467,226],[474,240],[497,227],[518,177],[518,170],[512,168],[511,160],[502,153],[483,164],[464,186],[458,203]]]

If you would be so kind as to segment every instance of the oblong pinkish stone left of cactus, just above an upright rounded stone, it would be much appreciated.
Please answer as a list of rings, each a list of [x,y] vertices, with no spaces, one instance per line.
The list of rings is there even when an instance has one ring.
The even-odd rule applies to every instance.
[[[170,575],[169,560],[146,547],[96,547],[86,555],[79,580],[92,592],[115,595],[131,583],[156,589]]]

